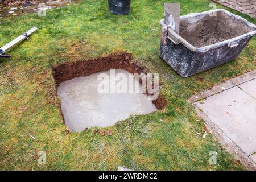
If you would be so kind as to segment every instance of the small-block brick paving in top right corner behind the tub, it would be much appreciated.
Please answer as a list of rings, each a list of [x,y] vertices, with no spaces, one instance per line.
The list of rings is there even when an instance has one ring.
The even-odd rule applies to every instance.
[[[214,0],[223,6],[256,18],[256,0]]]

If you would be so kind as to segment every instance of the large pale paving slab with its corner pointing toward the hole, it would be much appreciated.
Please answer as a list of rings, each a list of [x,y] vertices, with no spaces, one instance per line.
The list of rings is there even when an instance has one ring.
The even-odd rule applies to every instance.
[[[256,100],[237,86],[195,102],[246,155],[256,151]]]

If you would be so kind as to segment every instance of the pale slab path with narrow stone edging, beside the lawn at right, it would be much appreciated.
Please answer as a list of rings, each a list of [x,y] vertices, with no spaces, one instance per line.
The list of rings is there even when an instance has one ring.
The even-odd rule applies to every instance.
[[[256,71],[189,99],[207,129],[251,169],[256,169]]]

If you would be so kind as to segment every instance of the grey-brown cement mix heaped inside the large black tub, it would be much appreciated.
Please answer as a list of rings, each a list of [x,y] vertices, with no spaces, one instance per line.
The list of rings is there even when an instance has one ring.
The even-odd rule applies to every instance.
[[[245,22],[224,11],[207,14],[201,19],[189,18],[180,22],[180,36],[195,47],[209,46],[254,31]]]

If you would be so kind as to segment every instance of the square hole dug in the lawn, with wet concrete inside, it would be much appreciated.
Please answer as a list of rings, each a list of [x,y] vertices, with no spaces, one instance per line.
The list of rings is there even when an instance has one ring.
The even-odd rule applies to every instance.
[[[148,114],[163,109],[166,101],[162,96],[152,101],[143,93],[98,93],[98,84],[101,82],[98,80],[99,74],[105,73],[110,78],[109,83],[113,83],[110,72],[127,77],[129,73],[147,73],[145,68],[130,60],[129,54],[122,53],[53,68],[61,113],[69,131],[112,126],[129,118],[130,114]],[[137,84],[140,85],[139,80]]]

